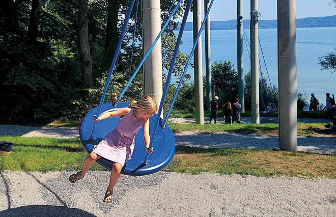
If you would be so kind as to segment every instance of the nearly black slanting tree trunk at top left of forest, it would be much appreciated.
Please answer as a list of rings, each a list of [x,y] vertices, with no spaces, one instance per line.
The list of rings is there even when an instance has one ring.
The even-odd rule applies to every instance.
[[[27,33],[27,43],[33,44],[37,40],[38,22],[41,16],[41,1],[33,0],[31,17],[29,18],[29,26]]]

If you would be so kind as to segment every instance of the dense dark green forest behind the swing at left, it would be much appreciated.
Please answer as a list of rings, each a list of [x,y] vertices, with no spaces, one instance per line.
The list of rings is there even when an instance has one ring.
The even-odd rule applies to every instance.
[[[124,0],[4,0],[0,8],[0,113],[2,122],[80,120],[100,100],[114,57],[125,10]],[[140,1],[141,2],[141,1]],[[170,0],[161,0],[161,19]],[[181,17],[185,3],[177,17]],[[135,7],[115,68],[111,91],[120,93],[128,80],[133,27],[136,25],[131,71],[142,58],[142,8]],[[173,21],[172,21],[173,22]],[[172,26],[176,28],[177,23]],[[174,29],[173,28],[173,29]],[[169,67],[175,35],[162,49],[163,70]],[[183,70],[187,56],[179,53],[174,73]],[[143,87],[142,72],[129,88],[135,99]],[[113,89],[113,90],[112,90]]]

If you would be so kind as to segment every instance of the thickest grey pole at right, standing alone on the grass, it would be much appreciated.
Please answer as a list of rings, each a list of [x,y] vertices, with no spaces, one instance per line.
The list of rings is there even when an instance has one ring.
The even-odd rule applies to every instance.
[[[277,0],[279,148],[297,151],[296,1]]]

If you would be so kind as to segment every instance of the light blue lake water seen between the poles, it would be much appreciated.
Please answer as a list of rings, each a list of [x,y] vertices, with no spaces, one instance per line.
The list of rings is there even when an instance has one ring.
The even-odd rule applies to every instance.
[[[249,30],[245,30],[249,40]],[[314,93],[320,103],[325,104],[325,93],[336,94],[336,73],[323,70],[318,64],[318,58],[334,51],[336,46],[336,28],[299,28],[297,29],[297,90],[305,92],[309,101],[310,94]],[[176,33],[177,34],[177,33]],[[237,32],[236,30],[211,31],[211,63],[215,61],[230,61],[237,70]],[[277,84],[277,33],[276,29],[260,29],[259,38],[264,52],[267,69],[272,85]],[[185,31],[182,37],[183,44],[180,51],[189,55],[193,44],[192,31]],[[244,45],[244,73],[250,70],[250,60]],[[205,76],[205,43],[202,35],[203,47],[203,75]],[[262,71],[266,76],[266,69],[261,56]],[[189,67],[188,74],[193,80],[193,68]],[[260,76],[260,75],[259,75]]]

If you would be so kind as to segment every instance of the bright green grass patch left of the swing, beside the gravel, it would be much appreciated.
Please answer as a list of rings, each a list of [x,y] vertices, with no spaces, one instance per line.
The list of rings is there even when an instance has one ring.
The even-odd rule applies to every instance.
[[[0,170],[11,171],[60,171],[81,168],[87,153],[79,139],[52,139],[26,137],[0,137],[11,141],[10,155],[0,156]],[[103,169],[98,164],[92,168]]]

